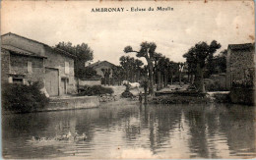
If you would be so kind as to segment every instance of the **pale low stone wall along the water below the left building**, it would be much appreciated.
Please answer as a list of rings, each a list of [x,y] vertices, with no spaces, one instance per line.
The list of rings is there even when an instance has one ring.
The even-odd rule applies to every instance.
[[[51,98],[49,104],[38,111],[58,111],[84,108],[95,108],[99,106],[96,96],[79,96],[65,98]]]

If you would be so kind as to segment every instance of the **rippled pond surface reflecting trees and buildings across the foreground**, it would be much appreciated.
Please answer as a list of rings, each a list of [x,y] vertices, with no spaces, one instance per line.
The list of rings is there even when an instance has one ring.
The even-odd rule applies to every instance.
[[[124,104],[126,103],[126,104]],[[3,116],[5,158],[252,158],[255,108],[239,105],[144,106]],[[32,142],[32,136],[86,133],[85,141]]]

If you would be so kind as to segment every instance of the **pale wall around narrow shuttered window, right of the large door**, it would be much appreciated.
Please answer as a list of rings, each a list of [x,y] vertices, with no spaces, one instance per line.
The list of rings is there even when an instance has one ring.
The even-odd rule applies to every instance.
[[[45,67],[58,69],[59,71],[59,89],[62,88],[61,80],[66,79],[66,92],[75,93],[77,91],[77,88],[74,73],[74,59],[66,55],[57,54],[54,52],[53,49],[49,47],[45,48],[45,56],[47,57],[44,64]],[[68,62],[69,64],[68,74],[65,73],[65,62]],[[59,92],[61,93],[62,91],[59,90]]]

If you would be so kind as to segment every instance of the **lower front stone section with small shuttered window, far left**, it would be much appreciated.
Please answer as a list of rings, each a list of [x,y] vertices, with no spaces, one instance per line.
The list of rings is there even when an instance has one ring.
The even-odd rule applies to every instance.
[[[1,47],[2,83],[43,82],[43,61],[46,57],[33,55],[12,46]]]

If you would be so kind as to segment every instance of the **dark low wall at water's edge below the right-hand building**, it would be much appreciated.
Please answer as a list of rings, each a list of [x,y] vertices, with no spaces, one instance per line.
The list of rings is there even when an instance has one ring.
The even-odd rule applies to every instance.
[[[230,100],[232,103],[253,105],[255,90],[252,88],[231,87]]]

